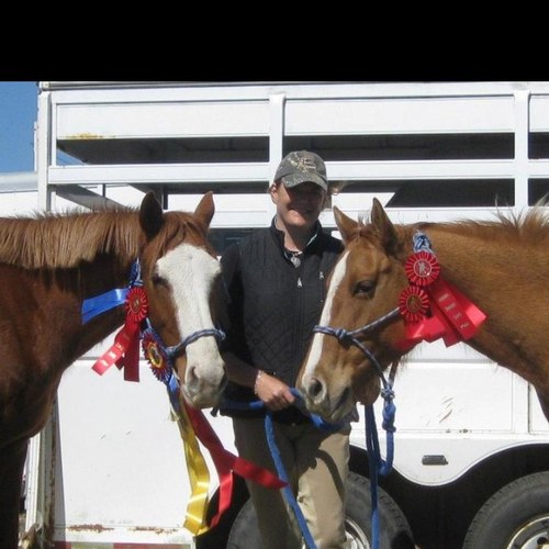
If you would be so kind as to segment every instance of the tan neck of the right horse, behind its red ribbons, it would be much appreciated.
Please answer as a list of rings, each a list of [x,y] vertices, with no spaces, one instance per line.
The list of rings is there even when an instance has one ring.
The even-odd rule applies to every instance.
[[[473,233],[441,224],[424,232],[444,280],[486,314],[481,330],[467,343],[549,394],[545,253],[518,238],[498,237],[490,228]]]

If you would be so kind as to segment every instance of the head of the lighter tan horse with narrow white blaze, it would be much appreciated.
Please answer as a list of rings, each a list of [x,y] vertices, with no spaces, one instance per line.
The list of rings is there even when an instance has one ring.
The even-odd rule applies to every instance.
[[[381,371],[402,356],[395,343],[404,337],[404,323],[391,307],[407,279],[403,239],[377,199],[370,224],[351,220],[337,206],[334,216],[345,250],[328,278],[298,386],[310,412],[336,422],[355,402],[376,401]]]

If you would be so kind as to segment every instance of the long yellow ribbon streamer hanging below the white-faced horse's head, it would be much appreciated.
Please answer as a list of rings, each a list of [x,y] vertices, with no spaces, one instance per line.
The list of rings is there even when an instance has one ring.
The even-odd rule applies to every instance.
[[[198,536],[209,529],[206,511],[210,491],[210,471],[200,451],[197,436],[194,435],[184,406],[179,408],[179,413],[176,416],[179,432],[183,439],[184,458],[191,482],[191,497],[187,505],[183,527],[194,536]]]

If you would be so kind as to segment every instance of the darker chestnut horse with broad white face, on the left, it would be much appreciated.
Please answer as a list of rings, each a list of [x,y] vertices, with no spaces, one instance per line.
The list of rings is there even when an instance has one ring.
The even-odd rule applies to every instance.
[[[221,269],[208,242],[213,214],[212,192],[193,213],[163,212],[149,192],[138,209],[0,219],[2,549],[18,547],[27,441],[44,427],[63,372],[124,318],[145,317],[175,349],[176,397],[197,408],[217,403],[226,376],[214,328]],[[85,322],[82,305],[127,287],[136,265],[137,293]]]

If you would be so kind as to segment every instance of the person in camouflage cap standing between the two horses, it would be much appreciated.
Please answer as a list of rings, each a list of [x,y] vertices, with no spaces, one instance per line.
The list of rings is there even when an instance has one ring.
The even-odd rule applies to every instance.
[[[306,150],[290,153],[269,192],[277,208],[270,227],[253,232],[222,257],[231,321],[226,397],[260,400],[265,406],[227,406],[222,413],[233,416],[239,455],[276,472],[264,423],[266,408],[272,413],[277,447],[316,546],[341,549],[350,426],[318,429],[291,392],[320,320],[325,279],[343,250],[318,222],[328,197],[323,159]],[[265,549],[301,549],[302,534],[283,493],[247,485]]]

